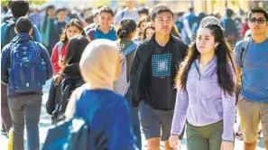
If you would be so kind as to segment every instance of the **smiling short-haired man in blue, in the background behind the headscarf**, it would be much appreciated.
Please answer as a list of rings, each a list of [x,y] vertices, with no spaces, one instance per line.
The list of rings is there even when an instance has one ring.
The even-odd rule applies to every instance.
[[[114,11],[108,6],[103,6],[99,9],[98,25],[88,30],[87,37],[91,42],[97,39],[107,39],[116,41],[116,28],[113,25]]]

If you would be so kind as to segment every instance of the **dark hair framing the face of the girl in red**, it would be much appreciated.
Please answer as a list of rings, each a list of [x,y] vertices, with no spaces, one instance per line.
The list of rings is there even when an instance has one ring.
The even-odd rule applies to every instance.
[[[60,36],[60,42],[68,42],[68,38],[67,38],[67,35],[66,35],[66,32],[67,32],[67,29],[69,28],[69,26],[77,26],[79,28],[79,31],[82,32],[82,35],[83,36],[86,36],[86,33],[83,29],[83,26],[82,24],[79,22],[78,19],[71,19],[65,26],[65,28],[63,29],[62,33],[61,33],[61,36]],[[70,40],[70,39],[69,39]]]

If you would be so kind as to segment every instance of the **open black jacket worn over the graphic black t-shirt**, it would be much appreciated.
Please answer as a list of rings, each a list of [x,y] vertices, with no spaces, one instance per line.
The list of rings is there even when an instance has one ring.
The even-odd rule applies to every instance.
[[[180,61],[182,61],[188,50],[188,45],[173,35],[171,35],[171,50],[175,61],[175,70],[179,70]],[[141,43],[135,53],[134,61],[130,71],[130,89],[132,90],[132,106],[139,107],[142,100],[146,100],[145,92],[150,79],[149,63],[152,58],[152,52],[155,49],[154,36],[151,39]]]

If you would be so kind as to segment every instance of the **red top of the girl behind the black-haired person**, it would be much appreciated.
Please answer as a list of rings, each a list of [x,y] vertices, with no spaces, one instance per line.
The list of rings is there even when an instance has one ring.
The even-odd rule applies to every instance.
[[[51,63],[52,63],[52,67],[54,70],[54,74],[57,74],[60,72],[60,65],[59,65],[59,60],[63,59],[65,54],[66,54],[66,49],[67,49],[67,45],[68,42],[65,42],[61,48],[60,54],[58,52],[58,46],[59,46],[60,42],[57,42],[56,45],[54,46],[53,50],[52,50],[52,55],[51,55]]]

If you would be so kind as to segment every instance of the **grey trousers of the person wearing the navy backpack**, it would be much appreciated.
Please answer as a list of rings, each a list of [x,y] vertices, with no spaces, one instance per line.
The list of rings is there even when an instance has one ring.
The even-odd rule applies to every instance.
[[[42,95],[25,95],[18,98],[8,98],[8,106],[14,127],[13,149],[24,149],[23,130],[25,120],[28,149],[39,150],[38,123],[41,116]]]

